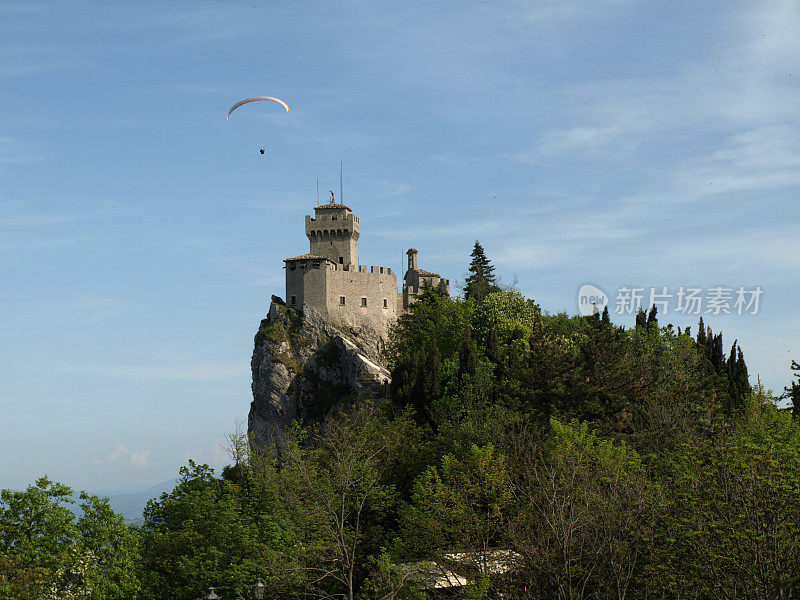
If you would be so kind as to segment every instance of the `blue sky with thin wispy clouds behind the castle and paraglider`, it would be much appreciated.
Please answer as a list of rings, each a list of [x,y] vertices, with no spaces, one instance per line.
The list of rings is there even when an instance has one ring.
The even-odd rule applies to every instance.
[[[413,246],[462,280],[480,239],[551,312],[585,283],[761,286],[757,315],[705,318],[779,390],[798,31],[780,0],[0,2],[0,487],[223,464],[340,161],[362,264]],[[252,95],[292,110],[225,120]]]

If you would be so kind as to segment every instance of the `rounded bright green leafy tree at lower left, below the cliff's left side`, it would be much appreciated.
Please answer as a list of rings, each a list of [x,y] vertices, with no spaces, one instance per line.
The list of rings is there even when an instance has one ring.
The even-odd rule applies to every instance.
[[[291,543],[290,525],[274,486],[263,483],[266,476],[256,482],[246,471],[239,474],[245,482],[233,484],[190,460],[175,489],[148,502],[142,526],[146,597],[199,598],[214,585],[223,597],[243,598],[256,577],[275,583],[274,571],[260,565],[275,546]]]

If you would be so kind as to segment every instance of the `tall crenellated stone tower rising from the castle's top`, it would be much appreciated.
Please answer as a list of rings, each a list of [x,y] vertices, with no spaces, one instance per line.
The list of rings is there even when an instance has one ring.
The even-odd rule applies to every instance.
[[[349,207],[337,204],[331,194],[328,204],[314,207],[314,217],[306,216],[306,236],[309,252],[331,259],[344,271],[358,265],[356,244],[361,235],[361,223]]]

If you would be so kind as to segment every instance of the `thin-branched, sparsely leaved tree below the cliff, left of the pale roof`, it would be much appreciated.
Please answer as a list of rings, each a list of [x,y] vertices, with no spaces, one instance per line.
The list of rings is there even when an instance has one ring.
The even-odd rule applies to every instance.
[[[402,428],[390,425],[397,423],[366,404],[290,436],[280,482],[305,594],[354,600],[379,554],[382,519],[397,501],[388,458],[404,442]]]

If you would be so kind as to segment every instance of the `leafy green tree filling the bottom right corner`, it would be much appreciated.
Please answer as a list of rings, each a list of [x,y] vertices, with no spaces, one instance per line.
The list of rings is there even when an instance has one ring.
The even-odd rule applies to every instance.
[[[794,597],[800,586],[800,427],[762,389],[727,435],[687,444],[663,484],[654,597]]]

